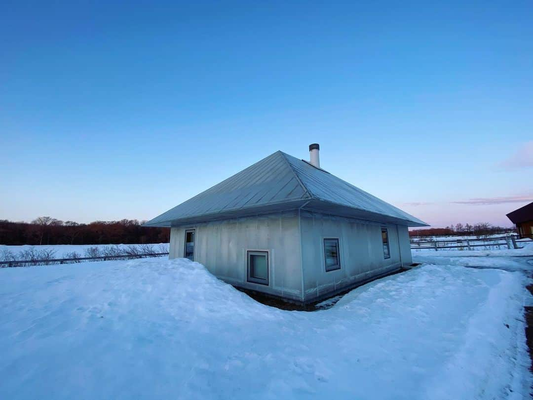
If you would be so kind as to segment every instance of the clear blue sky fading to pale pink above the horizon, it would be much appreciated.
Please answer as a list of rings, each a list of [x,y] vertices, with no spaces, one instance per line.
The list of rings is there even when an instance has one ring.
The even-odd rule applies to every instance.
[[[531,2],[263,3],[3,3],[0,219],[151,219],[314,142],[435,227],[533,201]]]

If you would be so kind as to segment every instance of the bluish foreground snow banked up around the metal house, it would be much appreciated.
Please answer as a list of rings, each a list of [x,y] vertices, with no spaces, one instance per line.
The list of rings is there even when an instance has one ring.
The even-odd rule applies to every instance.
[[[314,312],[183,259],[5,268],[0,398],[527,398],[526,278],[460,263]]]

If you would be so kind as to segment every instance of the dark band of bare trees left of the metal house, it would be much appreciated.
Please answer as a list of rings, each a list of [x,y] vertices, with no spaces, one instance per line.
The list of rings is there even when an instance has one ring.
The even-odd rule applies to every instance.
[[[0,220],[0,244],[145,244],[168,243],[169,228],[143,228],[136,219],[77,223],[39,217],[30,223]]]

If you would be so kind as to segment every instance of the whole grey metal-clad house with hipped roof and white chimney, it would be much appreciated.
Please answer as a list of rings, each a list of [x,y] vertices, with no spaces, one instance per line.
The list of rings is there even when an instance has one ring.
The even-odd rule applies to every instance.
[[[310,162],[277,151],[148,221],[171,227],[169,258],[289,301],[318,301],[412,263],[421,220]]]

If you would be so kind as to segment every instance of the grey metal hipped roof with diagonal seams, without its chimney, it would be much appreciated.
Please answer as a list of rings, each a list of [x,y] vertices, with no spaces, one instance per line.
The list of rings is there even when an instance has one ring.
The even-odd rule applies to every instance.
[[[282,151],[144,223],[170,227],[294,209],[341,217],[428,226],[310,163]]]

